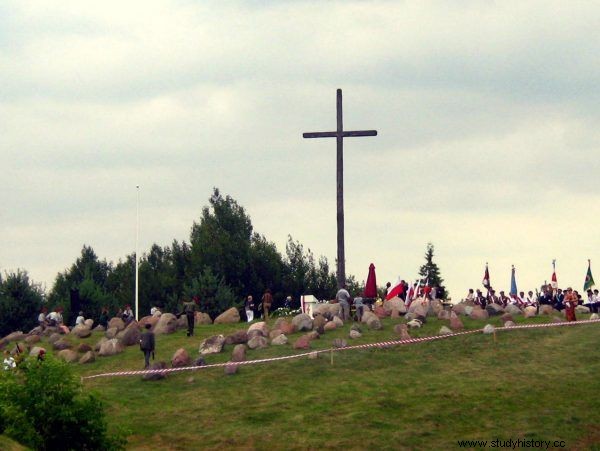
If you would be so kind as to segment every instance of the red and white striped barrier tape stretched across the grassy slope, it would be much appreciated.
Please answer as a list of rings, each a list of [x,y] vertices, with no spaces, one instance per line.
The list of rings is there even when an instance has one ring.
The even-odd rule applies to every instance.
[[[516,330],[516,329],[539,329],[543,327],[560,327],[560,326],[575,326],[580,324],[590,324],[590,323],[600,323],[600,319],[593,320],[583,320],[583,321],[574,321],[574,322],[562,322],[562,323],[546,323],[546,324],[524,324],[520,326],[511,326],[511,327],[496,327],[496,330]],[[482,333],[483,329],[474,329],[468,330],[464,332],[455,332],[452,334],[446,335],[433,335],[431,337],[422,337],[422,338],[409,338],[406,340],[393,340],[393,341],[382,341],[378,343],[367,343],[364,345],[354,345],[354,346],[346,346],[343,348],[328,348],[328,349],[320,349],[311,352],[303,352],[300,354],[292,354],[286,355],[282,357],[270,357],[267,359],[256,359],[256,360],[245,360],[243,362],[225,362],[225,363],[212,363],[209,365],[202,366],[182,366],[179,368],[163,368],[158,370],[138,370],[138,371],[117,371],[113,373],[102,373],[102,374],[94,374],[92,376],[84,376],[82,379],[96,379],[99,377],[119,377],[119,376],[143,376],[144,374],[167,374],[167,373],[177,373],[181,371],[198,371],[204,370],[208,368],[219,368],[225,367],[229,365],[256,365],[259,363],[268,363],[268,362],[277,362],[282,360],[291,360],[297,359],[300,357],[307,357],[309,355],[322,354],[326,352],[338,352],[338,351],[348,351],[352,349],[368,349],[368,348],[385,348],[388,346],[398,346],[398,345],[409,345],[415,343],[422,343],[426,341],[435,341],[442,340],[450,337],[458,337],[461,335],[470,335],[475,333]]]

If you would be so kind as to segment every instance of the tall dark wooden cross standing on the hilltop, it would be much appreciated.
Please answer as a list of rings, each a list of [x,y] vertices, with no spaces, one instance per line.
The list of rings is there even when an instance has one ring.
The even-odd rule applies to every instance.
[[[336,138],[337,141],[337,225],[338,225],[338,287],[346,285],[346,257],[344,250],[344,138],[351,136],[377,136],[377,130],[345,131],[342,119],[342,90],[337,90],[337,130],[335,132],[303,133],[304,138]]]

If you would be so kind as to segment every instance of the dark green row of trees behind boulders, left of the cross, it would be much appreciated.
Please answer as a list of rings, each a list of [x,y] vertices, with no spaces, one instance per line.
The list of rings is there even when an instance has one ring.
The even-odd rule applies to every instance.
[[[27,296],[35,298],[35,302],[27,302],[27,309],[12,309],[13,322],[8,328],[3,327],[2,309],[0,333],[15,330],[21,324],[22,328],[33,327],[42,302],[49,309],[63,307],[65,319],[72,322],[73,313],[77,313],[70,311],[74,294],[86,317],[97,320],[102,307],[115,314],[126,304],[134,306],[135,254],[113,263],[99,258],[92,247],[83,246],[71,267],[57,275],[45,299],[41,289],[31,284],[22,271],[7,274],[2,285],[19,283],[21,288],[29,286],[32,292]],[[353,277],[349,278],[349,285],[351,290],[360,289]],[[217,188],[209,205],[202,209],[199,221],[192,225],[189,243],[173,241],[163,247],[154,244],[140,256],[140,317],[148,315],[154,305],[163,311],[177,311],[183,297],[198,296],[202,311],[214,318],[231,306],[240,307],[247,295],[260,299],[267,288],[277,307],[288,295],[296,305],[302,294],[331,299],[337,284],[327,258],[315,258],[310,249],[291,236],[282,255],[274,243],[254,231],[244,208]],[[0,288],[0,299],[14,298],[3,296],[3,292]],[[18,318],[27,318],[27,323]]]

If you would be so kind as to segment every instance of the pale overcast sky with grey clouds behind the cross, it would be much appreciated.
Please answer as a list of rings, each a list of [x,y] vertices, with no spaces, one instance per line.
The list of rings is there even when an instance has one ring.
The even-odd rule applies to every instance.
[[[453,299],[600,279],[600,4],[0,3],[0,269],[49,289],[83,244],[117,261],[189,241],[213,186],[285,251],[333,264],[335,90],[347,271]]]

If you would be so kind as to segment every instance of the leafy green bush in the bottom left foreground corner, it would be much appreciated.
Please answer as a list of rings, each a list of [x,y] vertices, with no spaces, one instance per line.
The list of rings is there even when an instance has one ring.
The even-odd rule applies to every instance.
[[[109,436],[104,407],[67,364],[29,358],[0,373],[0,433],[36,450],[118,450],[122,434]]]

